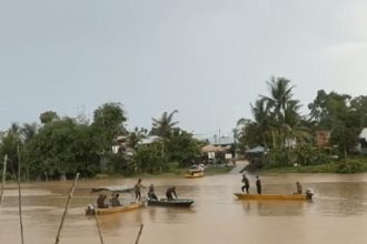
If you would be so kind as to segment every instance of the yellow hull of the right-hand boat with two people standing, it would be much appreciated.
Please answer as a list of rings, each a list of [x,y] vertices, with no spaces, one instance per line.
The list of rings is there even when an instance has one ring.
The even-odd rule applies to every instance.
[[[311,195],[306,194],[294,194],[294,195],[281,195],[281,194],[246,194],[235,193],[239,200],[257,200],[257,201],[309,201],[313,199]]]

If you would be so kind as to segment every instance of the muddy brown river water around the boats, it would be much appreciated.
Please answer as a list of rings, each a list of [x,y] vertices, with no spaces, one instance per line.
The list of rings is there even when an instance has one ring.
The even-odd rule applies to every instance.
[[[255,192],[255,176],[249,175]],[[202,179],[143,179],[163,196],[169,185],[179,197],[195,200],[190,209],[146,206],[125,213],[101,215],[106,244],[133,244],[142,223],[139,244],[365,244],[367,243],[367,174],[266,174],[264,193],[291,193],[296,181],[315,192],[313,202],[238,201],[240,174]],[[60,235],[65,244],[100,243],[96,220],[85,215],[96,202],[91,186],[127,184],[135,179],[79,180]],[[24,243],[54,243],[72,181],[22,184]],[[122,201],[132,195],[123,194]],[[20,243],[18,190],[7,184],[0,206],[0,243]]]

